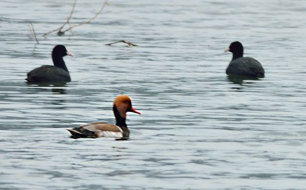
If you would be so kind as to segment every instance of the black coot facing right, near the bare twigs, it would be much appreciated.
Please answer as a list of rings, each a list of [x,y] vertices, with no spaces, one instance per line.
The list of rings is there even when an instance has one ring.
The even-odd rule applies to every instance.
[[[70,74],[63,59],[64,56],[73,56],[64,45],[57,45],[52,51],[53,65],[43,65],[28,72],[25,80],[28,82],[70,82]]]

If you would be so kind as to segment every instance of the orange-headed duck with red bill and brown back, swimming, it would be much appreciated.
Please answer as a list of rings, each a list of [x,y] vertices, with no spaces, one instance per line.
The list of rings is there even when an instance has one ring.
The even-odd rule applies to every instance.
[[[126,95],[119,95],[114,99],[113,112],[116,118],[116,125],[105,122],[92,122],[73,129],[67,129],[72,137],[98,138],[129,138],[129,129],[125,123],[126,112],[140,114],[132,107],[131,99]]]

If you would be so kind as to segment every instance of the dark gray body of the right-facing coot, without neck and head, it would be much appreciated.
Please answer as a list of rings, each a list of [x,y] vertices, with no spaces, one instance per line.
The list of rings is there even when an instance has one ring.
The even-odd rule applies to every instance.
[[[43,65],[28,72],[28,82],[70,82],[69,72],[53,65]]]

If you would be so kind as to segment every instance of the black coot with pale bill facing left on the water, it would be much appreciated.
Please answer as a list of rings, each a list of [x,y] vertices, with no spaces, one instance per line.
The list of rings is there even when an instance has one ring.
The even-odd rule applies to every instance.
[[[227,75],[242,75],[255,78],[263,78],[265,70],[263,66],[254,58],[243,57],[243,46],[235,41],[226,48],[224,52],[232,52],[233,58],[226,69]]]

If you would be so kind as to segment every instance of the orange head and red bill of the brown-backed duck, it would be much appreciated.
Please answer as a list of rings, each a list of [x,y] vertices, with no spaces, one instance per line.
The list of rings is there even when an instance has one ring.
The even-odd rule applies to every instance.
[[[140,114],[132,107],[131,99],[126,95],[119,95],[114,100],[114,107],[116,106],[120,116],[126,118],[126,112],[134,112]]]

